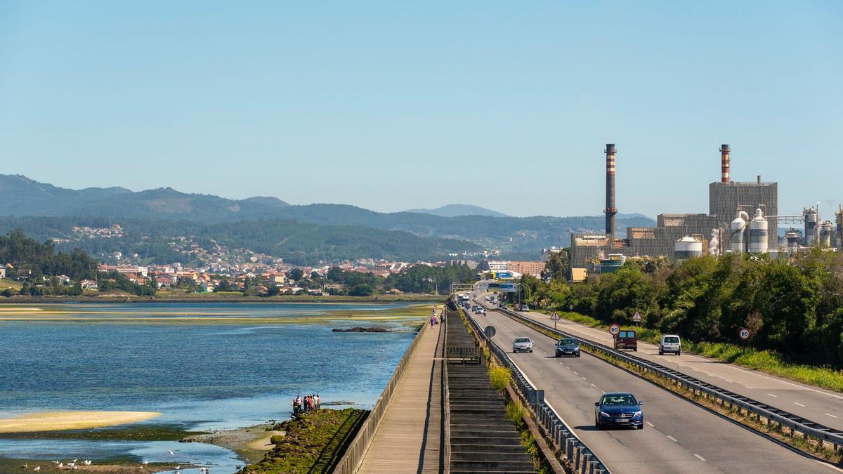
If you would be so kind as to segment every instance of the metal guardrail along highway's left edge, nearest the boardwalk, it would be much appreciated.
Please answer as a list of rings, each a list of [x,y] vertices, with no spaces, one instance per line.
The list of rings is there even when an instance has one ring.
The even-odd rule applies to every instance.
[[[537,421],[545,429],[545,433],[548,434],[550,439],[553,439],[558,449],[565,452],[568,461],[571,461],[574,467],[574,471],[582,474],[609,474],[610,471],[604,466],[603,461],[600,461],[599,457],[574,434],[573,429],[562,420],[559,413],[544,400],[540,400],[539,393],[544,393],[544,391],[540,391],[540,389],[527,380],[521,369],[518,369],[518,366],[515,365],[513,360],[509,358],[501,347],[498,347],[490,337],[486,336],[486,333],[477,324],[477,321],[471,318],[468,312],[462,308],[460,310],[463,311],[465,318],[469,321],[471,329],[475,332],[481,344],[489,349],[489,352],[497,358],[500,364],[512,370],[518,395],[521,396],[526,404],[534,407]]]

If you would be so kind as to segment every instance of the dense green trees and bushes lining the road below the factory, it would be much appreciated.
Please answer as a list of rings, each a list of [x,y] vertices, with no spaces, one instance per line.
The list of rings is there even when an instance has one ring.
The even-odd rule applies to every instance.
[[[679,334],[689,352],[843,391],[843,255],[813,249],[787,262],[730,254],[676,266],[629,260],[573,284],[564,261],[551,263],[549,283],[522,279],[521,297],[535,308],[600,328],[633,327],[639,311],[642,340]],[[745,343],[741,328],[751,332]]]

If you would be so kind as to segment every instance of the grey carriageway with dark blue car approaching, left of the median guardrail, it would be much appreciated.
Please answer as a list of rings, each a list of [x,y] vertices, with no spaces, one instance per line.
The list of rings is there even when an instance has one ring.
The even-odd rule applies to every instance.
[[[800,455],[747,428],[697,407],[588,353],[554,357],[555,339],[497,311],[472,315],[507,353],[515,337],[534,341],[533,353],[512,354],[518,368],[545,401],[613,472],[835,472],[839,469]],[[642,430],[594,428],[594,402],[603,392],[631,391],[643,406]],[[840,471],[843,472],[843,471]]]

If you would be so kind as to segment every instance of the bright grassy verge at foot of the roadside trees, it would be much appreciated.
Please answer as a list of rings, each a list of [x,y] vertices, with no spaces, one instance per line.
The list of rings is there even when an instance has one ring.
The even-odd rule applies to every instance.
[[[602,321],[579,313],[559,313],[560,317],[597,329],[608,329]],[[652,344],[658,344],[662,333],[654,329],[624,326],[622,329],[635,329],[638,339]],[[682,350],[695,353],[707,358],[715,358],[737,364],[748,369],[756,369],[767,374],[777,375],[789,380],[814,385],[832,391],[843,391],[843,371],[817,367],[807,364],[792,364],[787,362],[781,354],[775,351],[759,350],[753,347],[740,347],[727,342],[682,342]]]

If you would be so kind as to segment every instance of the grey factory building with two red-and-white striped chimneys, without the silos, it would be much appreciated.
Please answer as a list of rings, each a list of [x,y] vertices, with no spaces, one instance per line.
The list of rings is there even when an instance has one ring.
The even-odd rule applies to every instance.
[[[605,234],[571,235],[572,267],[586,267],[588,261],[604,258],[610,254],[673,259],[676,257],[677,241],[685,237],[701,242],[702,253],[719,254],[729,248],[730,224],[735,214],[744,211],[748,217],[755,216],[757,209],[761,209],[765,216],[766,245],[761,245],[757,241],[762,235],[759,224],[756,223],[753,229],[749,229],[749,219],[747,219],[745,222],[749,232],[754,230],[752,235],[756,242],[753,248],[758,249],[762,246],[770,249],[778,248],[778,225],[775,218],[778,213],[778,185],[763,182],[760,176],[757,180],[750,182],[731,180],[728,144],[723,144],[720,148],[721,180],[708,186],[708,214],[659,214],[655,228],[627,228],[626,239],[616,238],[615,214],[618,210],[615,207],[615,155],[617,153],[615,145],[607,144],[604,153],[606,154],[606,208],[604,210],[606,231]],[[743,238],[743,232],[741,237]],[[689,243],[685,240],[685,245]]]

